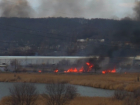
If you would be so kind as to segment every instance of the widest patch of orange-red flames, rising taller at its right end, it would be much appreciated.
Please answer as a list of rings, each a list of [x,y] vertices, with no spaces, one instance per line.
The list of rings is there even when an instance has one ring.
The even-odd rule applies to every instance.
[[[86,65],[88,66],[87,72],[90,72],[91,69],[93,68],[93,64],[87,62]],[[84,67],[81,67],[80,69],[77,69],[77,68],[70,68],[70,69],[64,71],[64,73],[82,73],[82,72],[84,72],[84,71],[85,71],[85,70],[84,70]]]

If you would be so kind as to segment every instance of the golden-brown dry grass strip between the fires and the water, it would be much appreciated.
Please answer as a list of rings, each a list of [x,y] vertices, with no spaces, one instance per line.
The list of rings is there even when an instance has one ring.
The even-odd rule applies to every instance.
[[[48,73],[0,73],[0,82],[49,83],[59,80],[75,85],[102,89],[133,91],[140,87],[140,73],[127,74],[48,74]]]

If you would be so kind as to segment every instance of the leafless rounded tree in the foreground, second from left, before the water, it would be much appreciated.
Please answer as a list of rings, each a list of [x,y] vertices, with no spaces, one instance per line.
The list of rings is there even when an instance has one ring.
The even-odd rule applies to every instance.
[[[77,95],[76,87],[66,83],[54,82],[46,86],[46,93],[43,95],[47,105],[65,105]]]

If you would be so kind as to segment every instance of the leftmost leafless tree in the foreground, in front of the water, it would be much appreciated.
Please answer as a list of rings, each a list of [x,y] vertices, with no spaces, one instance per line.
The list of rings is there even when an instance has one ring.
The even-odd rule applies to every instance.
[[[29,83],[14,84],[9,91],[12,98],[12,105],[35,105],[38,97],[36,87]]]

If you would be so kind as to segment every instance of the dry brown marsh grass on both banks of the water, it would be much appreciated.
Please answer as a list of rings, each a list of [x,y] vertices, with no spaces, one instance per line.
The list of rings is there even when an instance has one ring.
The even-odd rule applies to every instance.
[[[49,83],[51,80],[68,82],[103,89],[124,89],[133,91],[140,87],[139,73],[127,74],[48,74],[48,73],[0,73],[0,82]],[[0,100],[0,105],[10,105],[10,97]],[[123,105],[124,101],[105,97],[76,97],[69,105]],[[36,105],[46,105],[39,97]]]

